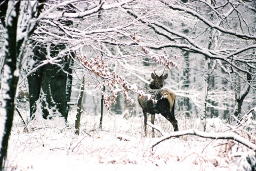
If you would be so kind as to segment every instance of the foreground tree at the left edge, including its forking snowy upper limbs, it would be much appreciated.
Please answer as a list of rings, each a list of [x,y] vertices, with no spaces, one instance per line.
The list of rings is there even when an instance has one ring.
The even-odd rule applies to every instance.
[[[29,5],[35,7],[30,15],[20,13],[20,10],[26,9]],[[6,158],[8,140],[12,128],[15,109],[14,99],[17,91],[21,62],[26,52],[29,37],[35,30],[37,18],[40,14],[38,9],[41,5],[40,2],[21,1],[1,1],[0,3],[1,22],[6,30],[1,85],[1,170],[4,168],[4,158]],[[23,23],[23,25],[20,25],[20,22]]]

